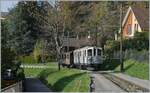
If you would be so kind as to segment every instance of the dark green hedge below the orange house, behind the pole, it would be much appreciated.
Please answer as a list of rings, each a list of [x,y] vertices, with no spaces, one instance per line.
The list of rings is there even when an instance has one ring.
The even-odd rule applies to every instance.
[[[135,49],[135,50],[143,50],[149,49],[149,38],[148,38],[148,32],[137,32],[135,33],[134,38],[124,39],[122,41],[122,48],[123,51],[129,50],[129,49]],[[120,49],[120,41],[114,41],[114,40],[108,40],[105,45],[105,52],[110,54],[114,51],[118,51]]]

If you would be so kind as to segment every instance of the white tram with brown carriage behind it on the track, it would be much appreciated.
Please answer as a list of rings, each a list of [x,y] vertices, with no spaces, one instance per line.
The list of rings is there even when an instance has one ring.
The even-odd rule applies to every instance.
[[[86,46],[67,52],[63,56],[63,66],[79,67],[87,69],[87,67],[97,67],[103,63],[103,52],[101,47]]]

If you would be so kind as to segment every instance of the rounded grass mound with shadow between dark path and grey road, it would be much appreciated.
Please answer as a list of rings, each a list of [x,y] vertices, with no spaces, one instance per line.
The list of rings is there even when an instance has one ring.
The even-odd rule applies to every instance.
[[[56,92],[88,92],[90,78],[77,69],[44,70],[41,79]],[[45,74],[49,73],[48,76]]]

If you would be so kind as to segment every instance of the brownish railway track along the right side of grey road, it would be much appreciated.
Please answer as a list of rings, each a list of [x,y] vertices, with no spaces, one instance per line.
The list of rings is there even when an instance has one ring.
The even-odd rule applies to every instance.
[[[113,74],[104,73],[103,75],[107,79],[111,80],[112,82],[114,82],[116,85],[118,85],[120,88],[124,89],[127,92],[149,92],[149,89],[144,88],[140,85],[134,84],[132,82],[129,82]]]

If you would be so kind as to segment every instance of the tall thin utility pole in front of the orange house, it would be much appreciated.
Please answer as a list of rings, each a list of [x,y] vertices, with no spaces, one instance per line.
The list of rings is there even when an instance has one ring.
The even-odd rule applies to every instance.
[[[122,3],[120,7],[120,71],[123,72],[124,70],[124,63],[123,63],[123,55],[122,55]]]

